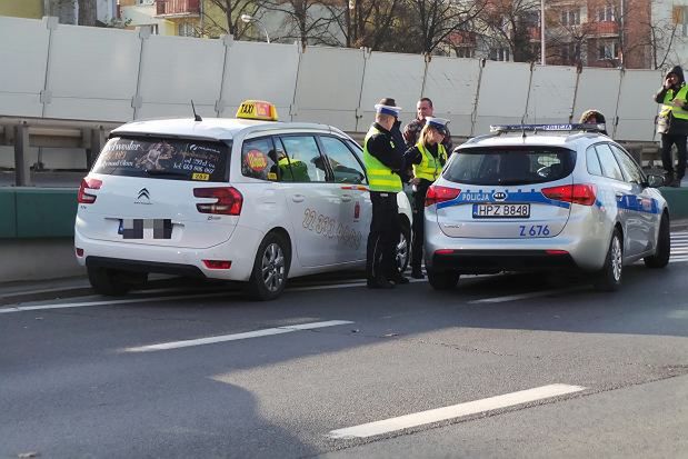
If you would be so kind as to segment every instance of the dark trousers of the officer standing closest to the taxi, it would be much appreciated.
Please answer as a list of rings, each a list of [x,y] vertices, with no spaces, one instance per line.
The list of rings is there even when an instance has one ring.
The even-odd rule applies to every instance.
[[[366,276],[369,280],[393,279],[401,224],[396,192],[370,191],[372,221],[368,235]]]

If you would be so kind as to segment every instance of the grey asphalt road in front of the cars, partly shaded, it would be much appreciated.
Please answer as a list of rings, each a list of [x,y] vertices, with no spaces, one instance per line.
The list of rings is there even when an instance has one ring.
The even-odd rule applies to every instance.
[[[686,457],[687,273],[6,302],[0,458]]]

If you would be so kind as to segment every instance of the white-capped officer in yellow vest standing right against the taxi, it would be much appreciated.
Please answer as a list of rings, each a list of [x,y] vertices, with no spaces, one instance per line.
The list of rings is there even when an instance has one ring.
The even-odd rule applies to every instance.
[[[398,126],[401,108],[395,99],[385,98],[375,106],[375,122],[363,140],[363,162],[368,173],[372,221],[368,235],[366,277],[372,289],[390,289],[408,283],[396,263],[396,250],[401,233],[397,193],[401,191],[403,149],[395,143],[391,130]]]

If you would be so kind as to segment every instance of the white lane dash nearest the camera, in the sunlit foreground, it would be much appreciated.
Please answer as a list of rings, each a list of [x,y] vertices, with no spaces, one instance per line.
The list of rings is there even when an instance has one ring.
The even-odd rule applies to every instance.
[[[450,407],[436,408],[412,415],[400,416],[398,418],[385,419],[382,421],[337,429],[330,431],[328,437],[333,439],[369,438],[412,427],[425,426],[432,422],[446,421],[448,419],[477,415],[500,408],[513,407],[516,405],[528,403],[536,400],[580,392],[581,390],[586,390],[586,388],[569,385],[542,386],[535,389],[527,389],[518,392],[505,393],[502,396],[469,401],[466,403],[452,405]]]

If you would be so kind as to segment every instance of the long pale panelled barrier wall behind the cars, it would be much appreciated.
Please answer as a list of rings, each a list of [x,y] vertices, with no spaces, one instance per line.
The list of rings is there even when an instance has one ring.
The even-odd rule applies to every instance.
[[[231,117],[265,99],[282,120],[367,130],[372,106],[393,97],[415,117],[421,96],[456,136],[489,124],[568,122],[589,108],[621,141],[655,140],[658,70],[531,66],[358,49],[207,40],[0,17],[0,116],[126,122]]]

